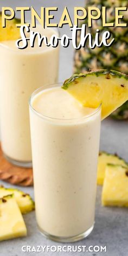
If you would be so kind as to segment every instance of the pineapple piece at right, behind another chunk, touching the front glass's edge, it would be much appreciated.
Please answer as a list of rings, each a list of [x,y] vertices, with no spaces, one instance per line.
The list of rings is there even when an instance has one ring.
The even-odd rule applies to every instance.
[[[110,155],[106,152],[100,152],[98,158],[98,174],[97,174],[97,184],[103,185],[105,178],[106,165],[110,164],[120,164],[127,167],[127,163],[117,155]]]

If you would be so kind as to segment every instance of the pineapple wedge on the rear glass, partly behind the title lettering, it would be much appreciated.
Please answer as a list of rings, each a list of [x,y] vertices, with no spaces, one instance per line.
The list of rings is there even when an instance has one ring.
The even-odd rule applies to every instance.
[[[0,12],[0,41],[16,40],[20,38],[20,28],[16,24],[20,23],[18,18],[8,20],[6,27],[2,28],[2,13]]]

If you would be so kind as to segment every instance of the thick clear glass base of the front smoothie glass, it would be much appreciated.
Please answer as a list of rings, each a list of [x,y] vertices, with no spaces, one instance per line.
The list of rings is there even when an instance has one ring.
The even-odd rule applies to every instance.
[[[46,238],[48,238],[50,240],[53,240],[53,241],[56,241],[56,242],[76,242],[76,241],[79,241],[81,239],[86,238],[89,234],[91,234],[91,232],[93,231],[93,228],[94,228],[94,224],[92,225],[91,228],[87,229],[87,231],[85,231],[85,232],[83,232],[83,233],[81,233],[79,235],[74,235],[74,236],[55,236],[55,235],[50,235],[47,232],[45,232],[42,229],[40,229],[40,227],[39,227],[39,231]]]

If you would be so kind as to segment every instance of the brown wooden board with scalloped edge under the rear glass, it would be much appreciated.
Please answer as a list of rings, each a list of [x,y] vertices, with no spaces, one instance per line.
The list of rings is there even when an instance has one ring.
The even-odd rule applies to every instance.
[[[4,158],[0,144],[0,180],[14,185],[28,187],[33,185],[33,169],[13,165]]]

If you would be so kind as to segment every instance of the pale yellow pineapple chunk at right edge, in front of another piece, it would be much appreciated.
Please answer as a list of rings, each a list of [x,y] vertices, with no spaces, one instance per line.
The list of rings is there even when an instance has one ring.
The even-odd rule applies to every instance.
[[[128,167],[107,164],[102,204],[103,206],[128,207]]]

